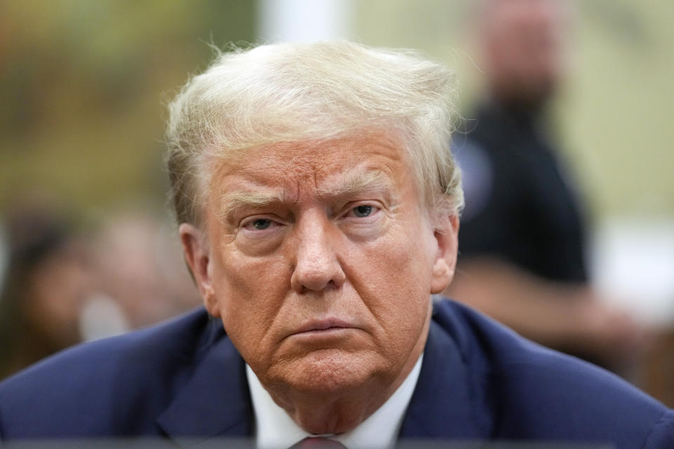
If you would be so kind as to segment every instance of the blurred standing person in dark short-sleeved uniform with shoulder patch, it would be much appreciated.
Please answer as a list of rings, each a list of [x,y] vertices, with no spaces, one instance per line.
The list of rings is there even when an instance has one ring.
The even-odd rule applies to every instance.
[[[645,332],[590,286],[581,202],[546,123],[571,16],[567,1],[480,4],[487,95],[454,139],[466,207],[449,294],[533,340],[622,370]]]

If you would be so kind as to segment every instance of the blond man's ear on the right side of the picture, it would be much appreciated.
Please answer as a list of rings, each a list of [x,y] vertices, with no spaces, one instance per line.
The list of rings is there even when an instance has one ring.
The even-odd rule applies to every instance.
[[[433,262],[430,293],[442,293],[454,278],[456,251],[458,248],[458,216],[440,217],[433,229],[437,241],[437,253]]]

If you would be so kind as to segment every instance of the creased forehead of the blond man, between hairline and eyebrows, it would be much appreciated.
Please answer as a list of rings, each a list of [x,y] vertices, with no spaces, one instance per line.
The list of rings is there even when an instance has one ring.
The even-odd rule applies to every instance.
[[[216,163],[211,187],[253,182],[286,189],[309,185],[322,190],[343,182],[345,177],[368,172],[387,176],[393,185],[407,182],[411,173],[407,152],[385,133],[324,141],[279,142],[247,149]]]

